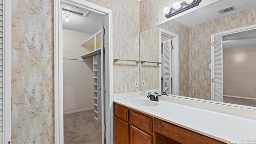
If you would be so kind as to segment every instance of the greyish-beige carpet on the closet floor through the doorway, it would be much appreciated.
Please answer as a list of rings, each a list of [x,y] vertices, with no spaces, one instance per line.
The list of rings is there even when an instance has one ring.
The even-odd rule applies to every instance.
[[[64,144],[101,144],[101,122],[93,110],[64,115]]]

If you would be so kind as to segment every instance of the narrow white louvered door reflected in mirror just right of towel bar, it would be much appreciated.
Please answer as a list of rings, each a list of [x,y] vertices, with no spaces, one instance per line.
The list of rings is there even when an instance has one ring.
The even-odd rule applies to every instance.
[[[163,76],[163,92],[171,94],[172,92],[172,56],[171,56],[171,39],[163,42],[163,63],[164,63],[164,76]]]

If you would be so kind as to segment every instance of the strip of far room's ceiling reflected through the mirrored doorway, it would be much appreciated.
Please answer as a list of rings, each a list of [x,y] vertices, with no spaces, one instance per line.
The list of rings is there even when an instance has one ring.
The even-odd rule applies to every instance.
[[[222,36],[223,48],[256,45],[256,29]]]

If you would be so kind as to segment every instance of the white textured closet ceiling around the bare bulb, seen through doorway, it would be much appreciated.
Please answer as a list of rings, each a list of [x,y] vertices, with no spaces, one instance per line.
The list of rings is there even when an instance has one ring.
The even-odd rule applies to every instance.
[[[77,14],[74,14],[73,12],[68,12],[65,9],[72,10]],[[62,4],[62,28],[77,32],[84,32],[87,34],[94,34],[98,30],[100,30],[102,28],[104,16],[89,12],[86,17],[83,17],[82,14],[84,12],[85,10],[81,8]],[[66,16],[63,15],[64,13],[70,14],[69,22],[65,21]]]

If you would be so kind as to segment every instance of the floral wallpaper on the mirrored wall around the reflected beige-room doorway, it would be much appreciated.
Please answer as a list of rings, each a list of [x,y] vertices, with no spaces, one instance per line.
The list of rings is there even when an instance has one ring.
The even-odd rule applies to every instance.
[[[189,96],[211,100],[210,35],[256,24],[256,7],[189,27]]]

